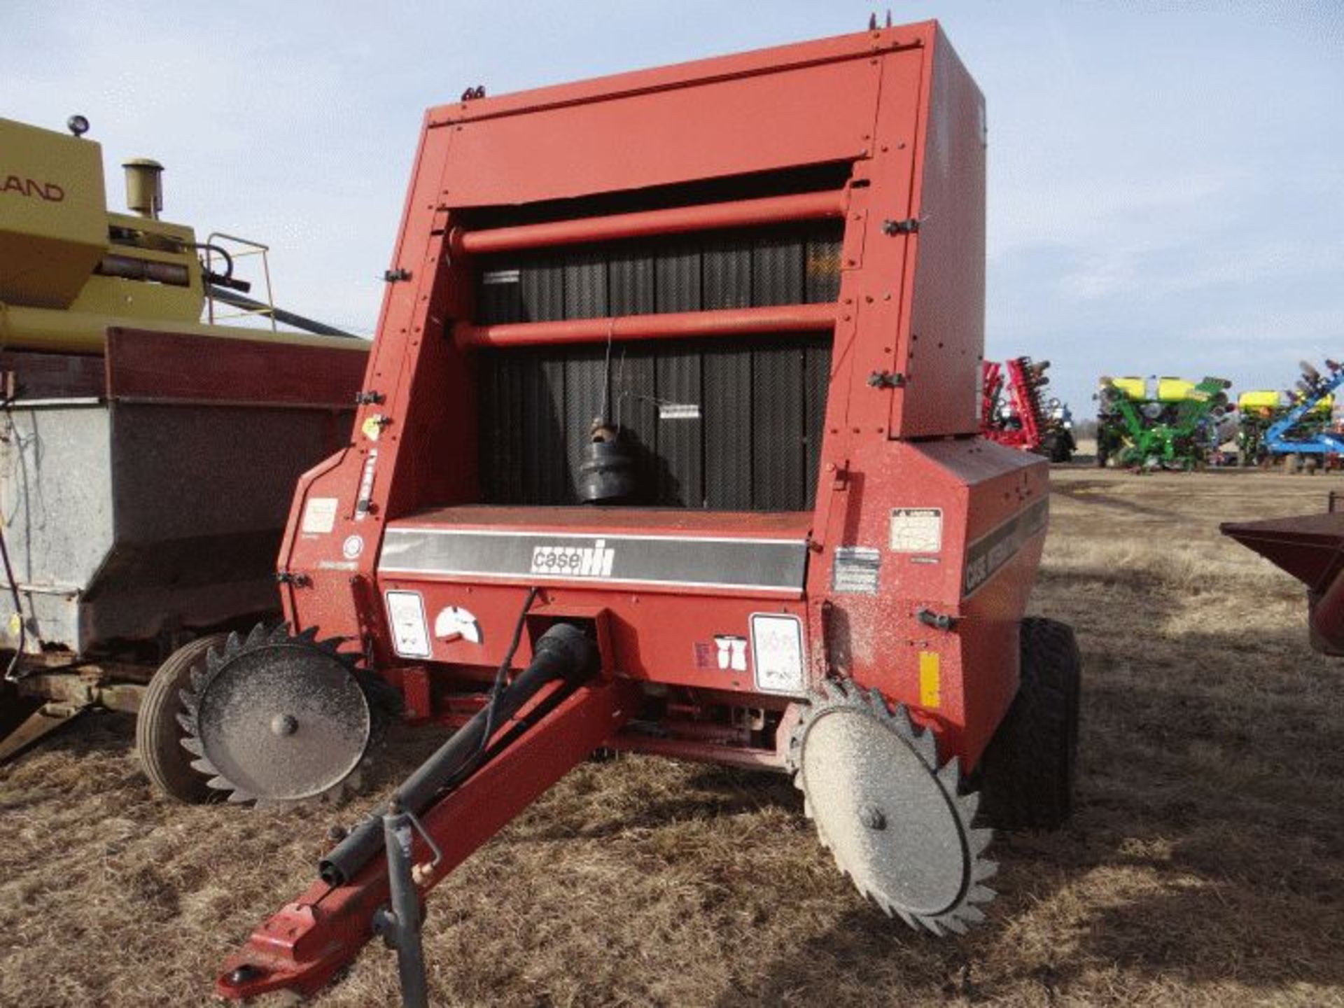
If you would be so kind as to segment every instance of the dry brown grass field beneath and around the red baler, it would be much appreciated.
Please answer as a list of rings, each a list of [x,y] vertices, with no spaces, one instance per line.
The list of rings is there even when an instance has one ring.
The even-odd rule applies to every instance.
[[[1344,661],[1216,532],[1337,484],[1055,470],[1032,609],[1086,661],[1081,804],[993,848],[988,926],[937,941],[866,906],[784,780],[625,758],[437,890],[435,1003],[1344,1005]],[[0,1004],[206,1003],[309,880],[336,813],[171,805],[132,745],[90,718],[0,769]],[[384,775],[425,746],[394,739]],[[320,999],[395,1001],[382,946]]]

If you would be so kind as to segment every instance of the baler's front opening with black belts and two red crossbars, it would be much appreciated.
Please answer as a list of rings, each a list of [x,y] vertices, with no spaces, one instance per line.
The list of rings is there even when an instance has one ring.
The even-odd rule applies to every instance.
[[[480,503],[581,503],[605,425],[633,462],[625,504],[810,509],[847,172],[470,214],[462,245],[500,249],[470,262]],[[778,328],[757,309],[781,312]],[[626,337],[603,332],[616,320]],[[718,325],[739,335],[698,335]]]

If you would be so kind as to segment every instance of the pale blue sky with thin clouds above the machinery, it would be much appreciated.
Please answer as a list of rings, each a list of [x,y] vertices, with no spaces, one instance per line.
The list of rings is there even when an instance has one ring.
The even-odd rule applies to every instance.
[[[860,30],[867,3],[8,0],[0,116],[168,165],[165,216],[273,247],[371,332],[423,109]],[[884,9],[884,8],[882,8]],[[923,3],[989,105],[991,356],[1285,387],[1344,358],[1344,4]]]

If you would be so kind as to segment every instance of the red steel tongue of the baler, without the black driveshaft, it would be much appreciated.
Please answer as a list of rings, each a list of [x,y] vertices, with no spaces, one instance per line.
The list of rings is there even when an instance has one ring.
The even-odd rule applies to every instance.
[[[536,703],[543,703],[544,696]],[[633,714],[633,684],[607,680],[581,687],[521,739],[473,774],[421,817],[442,849],[422,883],[427,892],[513,816],[601,746]],[[532,704],[535,707],[535,704]],[[526,718],[527,711],[520,712]],[[509,730],[509,722],[499,734]],[[497,735],[499,737],[499,735]],[[429,859],[417,837],[414,857]],[[387,863],[378,857],[345,886],[314,882],[304,895],[262,923],[223,965],[220,997],[257,997],[289,989],[313,995],[374,937],[374,913],[387,902]],[[250,968],[247,980],[231,974]]]

